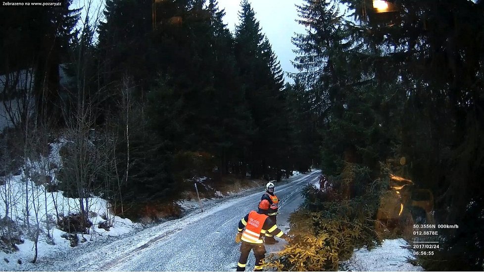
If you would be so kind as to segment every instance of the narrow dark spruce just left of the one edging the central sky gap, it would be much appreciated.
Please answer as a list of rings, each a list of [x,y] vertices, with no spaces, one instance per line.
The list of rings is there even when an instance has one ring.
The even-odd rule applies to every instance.
[[[210,0],[208,10],[212,14],[213,88],[216,90],[211,107],[215,127],[215,148],[220,158],[222,174],[234,173],[245,177],[245,153],[251,134],[251,116],[247,109],[241,79],[234,56],[234,38],[223,22],[224,10],[217,1]]]

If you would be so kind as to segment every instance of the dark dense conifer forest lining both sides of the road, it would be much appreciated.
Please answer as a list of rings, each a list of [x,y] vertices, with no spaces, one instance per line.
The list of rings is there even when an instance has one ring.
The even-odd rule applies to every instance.
[[[341,212],[325,214],[337,209],[328,203],[349,201],[347,224],[375,219],[398,176],[432,192],[434,224],[459,226],[439,229],[444,246],[424,267],[482,271],[484,1],[389,0],[386,12],[373,2],[295,6],[306,32],[292,39],[299,72],[289,75],[248,0],[234,33],[217,0],[106,0],[98,13],[72,0],[0,7],[12,124],[1,172],[63,138],[52,190],[100,194],[121,214],[180,198],[195,176],[280,181],[319,168],[339,194],[307,188],[304,212],[326,222]],[[372,210],[354,212],[361,203]]]

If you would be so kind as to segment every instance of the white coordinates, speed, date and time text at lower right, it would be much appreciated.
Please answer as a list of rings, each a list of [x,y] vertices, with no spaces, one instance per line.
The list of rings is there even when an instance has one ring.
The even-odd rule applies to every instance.
[[[440,248],[437,239],[439,230],[447,228],[459,228],[459,226],[447,224],[414,224],[414,242],[411,245],[413,255],[433,256]]]

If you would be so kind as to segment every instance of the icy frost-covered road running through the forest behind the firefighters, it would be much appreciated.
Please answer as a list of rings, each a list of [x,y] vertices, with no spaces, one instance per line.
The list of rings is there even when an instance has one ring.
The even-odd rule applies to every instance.
[[[314,184],[320,171],[313,171],[276,183],[281,200],[278,226],[289,229],[289,215],[302,203],[301,188]],[[235,271],[239,244],[234,242],[238,222],[255,210],[263,191],[223,199],[204,212],[194,211],[185,217],[146,228],[135,234],[108,242],[79,246],[69,252],[40,260],[29,270],[43,271]],[[286,243],[266,245],[268,252],[278,251]],[[254,265],[249,256],[247,270]]]

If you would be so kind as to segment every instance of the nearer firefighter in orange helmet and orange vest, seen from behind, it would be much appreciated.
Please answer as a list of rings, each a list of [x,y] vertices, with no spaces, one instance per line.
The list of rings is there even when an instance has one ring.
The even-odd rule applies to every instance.
[[[237,243],[242,241],[242,245],[237,271],[245,271],[250,250],[254,251],[255,256],[254,271],[262,271],[262,260],[266,253],[262,236],[265,233],[269,232],[289,242],[289,236],[279,229],[267,215],[269,208],[269,201],[262,200],[259,203],[259,210],[257,212],[251,211],[239,222],[239,232],[237,233],[235,241]]]

